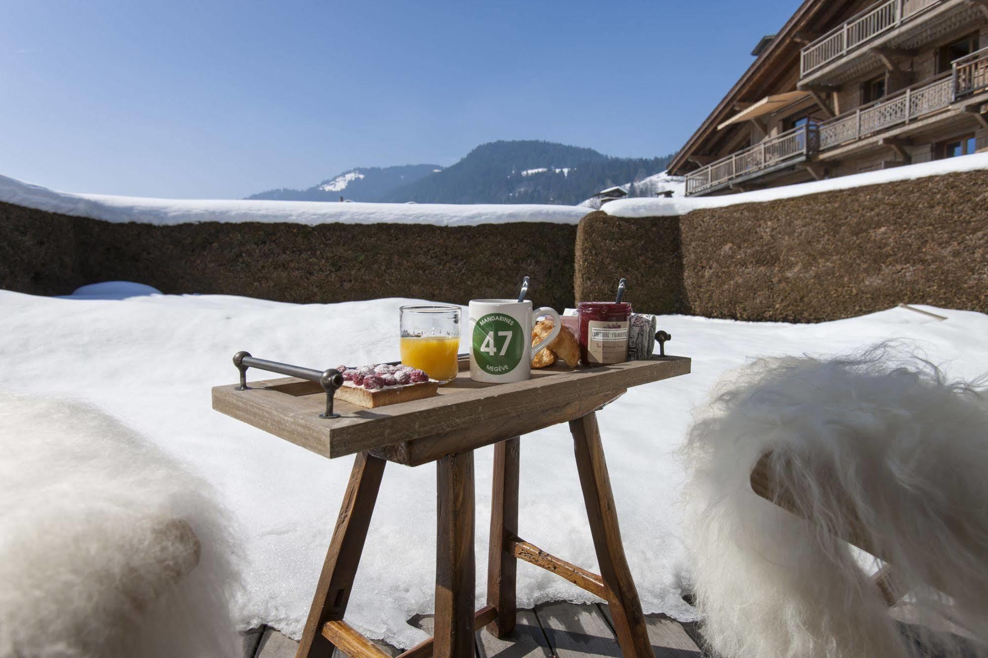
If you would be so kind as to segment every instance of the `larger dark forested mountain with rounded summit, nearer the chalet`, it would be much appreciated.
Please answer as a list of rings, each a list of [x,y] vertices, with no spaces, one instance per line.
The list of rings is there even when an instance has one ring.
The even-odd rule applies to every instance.
[[[616,158],[548,141],[494,141],[442,171],[392,190],[382,201],[575,206],[606,188],[662,172],[671,159]]]

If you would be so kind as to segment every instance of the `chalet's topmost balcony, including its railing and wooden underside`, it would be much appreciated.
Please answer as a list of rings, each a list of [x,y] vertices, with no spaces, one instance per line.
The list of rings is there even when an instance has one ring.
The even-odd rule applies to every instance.
[[[799,88],[839,85],[967,26],[984,22],[967,0],[886,0],[809,43],[799,58]]]

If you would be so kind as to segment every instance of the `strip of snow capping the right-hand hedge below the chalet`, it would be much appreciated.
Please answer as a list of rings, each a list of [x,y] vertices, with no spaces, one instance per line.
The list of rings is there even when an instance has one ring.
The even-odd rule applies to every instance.
[[[905,165],[892,169],[882,169],[864,174],[840,176],[823,181],[787,185],[781,188],[742,192],[736,195],[722,197],[682,197],[676,195],[672,199],[622,199],[606,204],[603,209],[616,217],[669,217],[683,215],[693,210],[705,207],[734,206],[735,204],[752,204],[758,202],[776,201],[777,199],[792,199],[805,195],[815,195],[833,190],[849,190],[865,185],[891,183],[894,181],[912,181],[927,176],[943,176],[965,171],[988,169],[988,153],[974,153],[945,160],[934,160],[915,165]],[[586,202],[585,202],[586,203]]]

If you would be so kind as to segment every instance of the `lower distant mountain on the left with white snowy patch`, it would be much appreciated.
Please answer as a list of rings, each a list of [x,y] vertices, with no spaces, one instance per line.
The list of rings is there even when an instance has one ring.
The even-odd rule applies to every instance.
[[[385,195],[422,178],[442,172],[439,165],[402,165],[398,167],[358,167],[339,176],[328,178],[307,190],[269,190],[251,195],[247,199],[271,199],[276,201],[350,201],[379,202]]]

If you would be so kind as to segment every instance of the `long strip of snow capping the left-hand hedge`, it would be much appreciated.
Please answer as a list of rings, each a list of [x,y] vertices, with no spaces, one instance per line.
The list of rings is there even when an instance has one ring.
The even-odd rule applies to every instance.
[[[336,204],[249,200],[181,200],[55,192],[0,176],[0,202],[113,222],[184,224],[200,221],[294,222],[300,224],[434,224],[470,226],[515,221],[576,224],[587,213],[579,206]]]

